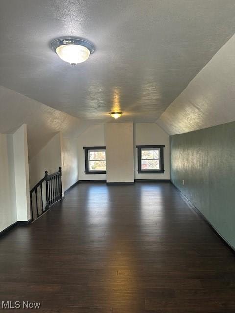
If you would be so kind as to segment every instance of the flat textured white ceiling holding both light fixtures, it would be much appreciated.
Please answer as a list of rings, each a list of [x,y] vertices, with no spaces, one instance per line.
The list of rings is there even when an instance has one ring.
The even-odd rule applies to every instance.
[[[75,117],[155,121],[235,32],[234,0],[0,0],[0,85]],[[73,35],[96,51],[71,67]]]

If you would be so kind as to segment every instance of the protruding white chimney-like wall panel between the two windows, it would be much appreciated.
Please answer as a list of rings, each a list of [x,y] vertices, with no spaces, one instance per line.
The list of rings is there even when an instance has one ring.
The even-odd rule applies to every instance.
[[[134,182],[133,123],[105,124],[107,183]]]

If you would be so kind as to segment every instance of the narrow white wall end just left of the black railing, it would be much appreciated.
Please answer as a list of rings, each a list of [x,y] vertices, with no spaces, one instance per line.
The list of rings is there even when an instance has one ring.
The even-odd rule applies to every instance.
[[[23,124],[13,134],[16,212],[18,221],[30,220],[29,166],[27,125]]]

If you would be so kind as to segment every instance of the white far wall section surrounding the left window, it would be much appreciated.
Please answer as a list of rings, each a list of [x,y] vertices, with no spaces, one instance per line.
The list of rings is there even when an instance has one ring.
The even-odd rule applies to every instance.
[[[106,174],[86,174],[83,147],[105,146],[104,124],[90,126],[78,137],[79,180],[103,180]]]

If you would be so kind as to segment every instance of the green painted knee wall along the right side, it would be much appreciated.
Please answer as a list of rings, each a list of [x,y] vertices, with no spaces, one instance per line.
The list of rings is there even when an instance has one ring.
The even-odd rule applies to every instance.
[[[173,135],[170,149],[171,181],[235,248],[235,122]]]

